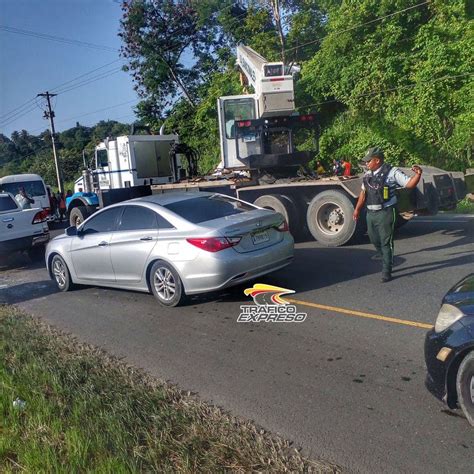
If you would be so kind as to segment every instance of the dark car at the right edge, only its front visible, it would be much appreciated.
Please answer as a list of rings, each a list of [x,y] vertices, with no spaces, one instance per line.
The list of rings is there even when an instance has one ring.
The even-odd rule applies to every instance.
[[[425,339],[426,386],[474,426],[474,273],[445,295]]]

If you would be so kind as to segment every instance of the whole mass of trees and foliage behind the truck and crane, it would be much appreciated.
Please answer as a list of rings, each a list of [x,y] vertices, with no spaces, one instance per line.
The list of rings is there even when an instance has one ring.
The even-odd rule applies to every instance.
[[[139,118],[179,133],[199,151],[202,172],[219,161],[217,98],[243,92],[238,43],[301,67],[296,103],[319,113],[323,162],[356,162],[381,146],[395,164],[464,170],[474,167],[469,8],[465,0],[127,0],[119,34]],[[60,134],[66,180],[84,147],[120,128],[97,127]],[[0,135],[0,173],[37,171],[54,182],[49,145],[48,133]]]

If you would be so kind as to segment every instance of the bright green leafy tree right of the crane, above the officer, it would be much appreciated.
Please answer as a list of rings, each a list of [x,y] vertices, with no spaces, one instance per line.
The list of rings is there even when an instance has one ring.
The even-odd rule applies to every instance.
[[[330,10],[328,34],[303,68],[324,117],[324,157],[383,144],[394,162],[466,167],[474,45],[464,2],[410,7],[361,0]]]

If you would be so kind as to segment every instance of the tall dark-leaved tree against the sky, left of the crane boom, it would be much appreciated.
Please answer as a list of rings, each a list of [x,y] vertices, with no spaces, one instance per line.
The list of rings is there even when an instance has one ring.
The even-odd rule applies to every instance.
[[[122,55],[128,59],[135,88],[150,106],[155,118],[163,115],[180,94],[195,105],[195,89],[202,77],[191,62],[212,59],[210,27],[199,24],[199,15],[189,1],[143,0],[123,3],[119,36]],[[190,57],[191,56],[191,57]],[[194,58],[192,57],[194,56]]]

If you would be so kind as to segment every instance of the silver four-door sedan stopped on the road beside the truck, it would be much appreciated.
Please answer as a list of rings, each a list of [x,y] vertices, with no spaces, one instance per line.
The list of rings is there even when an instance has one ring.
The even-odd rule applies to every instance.
[[[61,291],[74,284],[152,292],[166,306],[288,265],[283,216],[222,194],[172,192],[108,206],[46,249]]]

